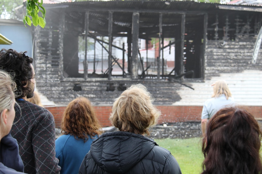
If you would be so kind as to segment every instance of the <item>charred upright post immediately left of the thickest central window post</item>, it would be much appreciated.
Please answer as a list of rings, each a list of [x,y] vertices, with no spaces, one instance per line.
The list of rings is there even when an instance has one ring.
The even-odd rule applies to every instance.
[[[111,80],[112,71],[112,30],[113,30],[113,12],[109,11],[108,17],[108,43],[109,43],[109,55],[108,55],[108,80]]]

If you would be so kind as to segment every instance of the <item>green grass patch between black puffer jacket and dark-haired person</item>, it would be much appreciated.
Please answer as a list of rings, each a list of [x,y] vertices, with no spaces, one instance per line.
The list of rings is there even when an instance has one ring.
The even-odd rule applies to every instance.
[[[201,152],[201,138],[156,139],[161,147],[168,149],[177,159],[183,174],[199,174],[204,156]]]

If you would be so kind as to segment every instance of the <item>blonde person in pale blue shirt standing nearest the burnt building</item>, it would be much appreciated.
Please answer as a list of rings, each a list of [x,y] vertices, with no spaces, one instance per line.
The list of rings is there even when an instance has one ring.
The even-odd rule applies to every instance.
[[[235,103],[225,80],[218,80],[212,84],[212,86],[212,98],[205,101],[202,109],[201,129],[203,136],[205,136],[206,124],[208,120],[221,108]]]

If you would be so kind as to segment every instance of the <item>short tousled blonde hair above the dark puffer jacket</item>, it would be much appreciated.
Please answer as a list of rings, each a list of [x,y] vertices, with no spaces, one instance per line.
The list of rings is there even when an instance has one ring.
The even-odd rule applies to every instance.
[[[153,97],[142,84],[134,84],[114,102],[109,120],[120,131],[147,134],[157,124],[160,111],[152,104]]]

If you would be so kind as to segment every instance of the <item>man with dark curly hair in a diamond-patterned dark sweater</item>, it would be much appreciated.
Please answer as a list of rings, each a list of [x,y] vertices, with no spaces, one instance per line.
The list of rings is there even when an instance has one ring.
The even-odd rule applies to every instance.
[[[60,173],[58,159],[55,157],[55,123],[53,115],[45,108],[26,101],[34,95],[35,72],[33,58],[26,52],[2,49],[0,69],[8,72],[17,85],[15,107],[18,123],[12,126],[11,134],[19,145],[19,154],[28,174]]]

